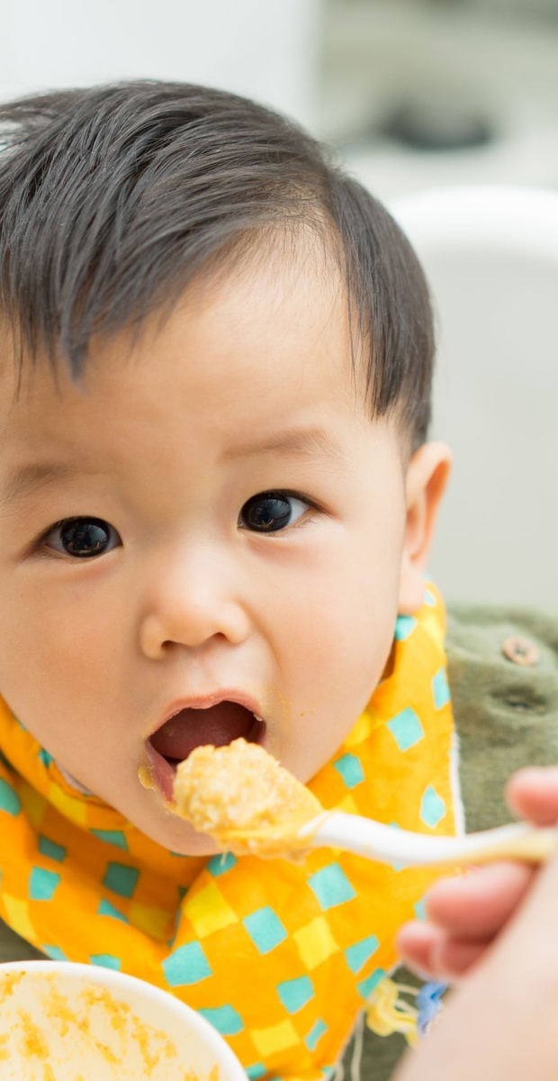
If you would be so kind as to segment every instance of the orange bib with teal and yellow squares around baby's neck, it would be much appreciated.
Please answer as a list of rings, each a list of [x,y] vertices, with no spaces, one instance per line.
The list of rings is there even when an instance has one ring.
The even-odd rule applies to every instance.
[[[311,782],[326,808],[455,830],[444,611],[399,617],[384,679]],[[302,866],[177,856],[82,795],[0,699],[0,916],[51,958],[171,990],[253,1079],[327,1076],[434,875],[330,849]]]

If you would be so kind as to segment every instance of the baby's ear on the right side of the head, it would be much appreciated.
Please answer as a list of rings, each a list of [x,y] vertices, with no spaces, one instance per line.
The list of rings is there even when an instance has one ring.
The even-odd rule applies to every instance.
[[[451,452],[446,443],[423,443],[407,468],[405,491],[407,521],[399,582],[399,615],[412,615],[424,596],[438,506],[451,469]]]

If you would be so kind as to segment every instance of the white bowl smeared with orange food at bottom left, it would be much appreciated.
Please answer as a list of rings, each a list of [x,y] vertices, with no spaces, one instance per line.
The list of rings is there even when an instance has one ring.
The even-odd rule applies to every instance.
[[[172,995],[68,961],[0,964],[2,1081],[246,1081],[219,1033]]]

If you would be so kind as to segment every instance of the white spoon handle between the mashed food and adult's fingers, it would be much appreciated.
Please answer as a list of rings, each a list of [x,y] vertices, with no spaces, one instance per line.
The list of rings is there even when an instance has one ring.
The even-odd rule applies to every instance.
[[[526,822],[462,837],[427,837],[341,811],[326,815],[317,828],[316,822],[307,824],[298,836],[308,836],[313,849],[342,849],[397,867],[484,864],[504,858],[539,864],[558,843],[558,829],[536,828]]]

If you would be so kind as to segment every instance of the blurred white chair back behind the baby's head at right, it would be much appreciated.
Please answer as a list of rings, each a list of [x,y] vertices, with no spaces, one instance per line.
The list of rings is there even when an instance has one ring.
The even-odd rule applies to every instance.
[[[439,188],[390,210],[431,283],[433,436],[454,469],[431,561],[451,600],[558,609],[558,192]]]

